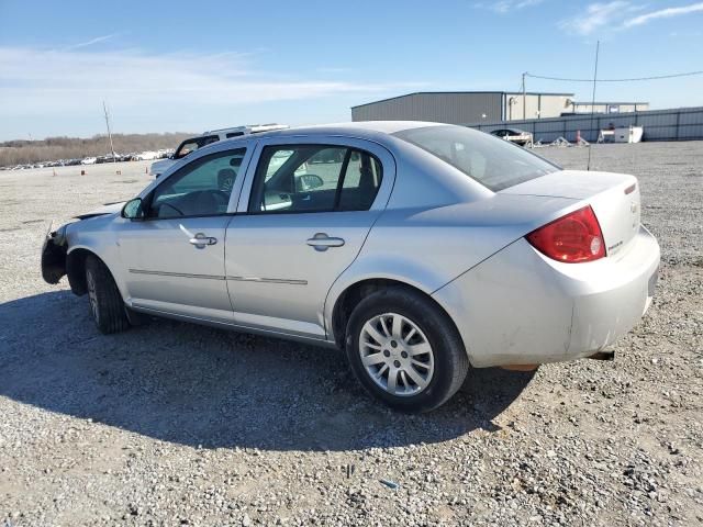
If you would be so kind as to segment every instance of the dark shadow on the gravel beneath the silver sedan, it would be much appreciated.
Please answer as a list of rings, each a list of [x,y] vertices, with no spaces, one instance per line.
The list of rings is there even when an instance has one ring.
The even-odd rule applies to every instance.
[[[532,373],[476,370],[438,411],[370,400],[341,352],[165,319],[103,336],[86,299],[0,304],[0,395],[204,448],[349,450],[437,442],[491,419]]]

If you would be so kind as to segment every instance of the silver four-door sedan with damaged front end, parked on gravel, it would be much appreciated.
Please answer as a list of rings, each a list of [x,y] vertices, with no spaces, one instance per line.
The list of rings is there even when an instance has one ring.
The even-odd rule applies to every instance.
[[[633,176],[462,126],[348,123],[200,148],[52,232],[42,272],[102,333],[149,314],[339,347],[371,394],[428,411],[469,366],[609,356],[657,280],[639,215]]]

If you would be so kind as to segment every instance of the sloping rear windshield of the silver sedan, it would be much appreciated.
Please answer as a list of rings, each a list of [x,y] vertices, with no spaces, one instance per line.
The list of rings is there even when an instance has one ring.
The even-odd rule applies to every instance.
[[[517,145],[465,126],[427,126],[393,135],[427,150],[493,192],[559,170]]]

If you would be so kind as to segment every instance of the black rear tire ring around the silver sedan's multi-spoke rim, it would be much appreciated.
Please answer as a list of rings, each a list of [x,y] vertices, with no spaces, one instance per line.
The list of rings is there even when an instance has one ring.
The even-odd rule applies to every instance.
[[[432,347],[434,372],[420,393],[394,395],[388,392],[371,379],[361,361],[359,340],[364,325],[386,313],[411,321]],[[402,412],[429,412],[443,405],[461,388],[469,369],[466,348],[451,319],[431,299],[410,288],[388,288],[361,300],[349,317],[345,349],[352,371],[361,385],[388,406]]]

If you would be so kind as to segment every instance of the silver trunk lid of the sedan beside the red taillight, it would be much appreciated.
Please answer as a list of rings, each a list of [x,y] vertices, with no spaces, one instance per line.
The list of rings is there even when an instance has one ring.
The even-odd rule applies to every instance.
[[[503,194],[583,200],[598,217],[607,256],[615,256],[639,229],[639,186],[624,173],[561,170],[502,190]]]

